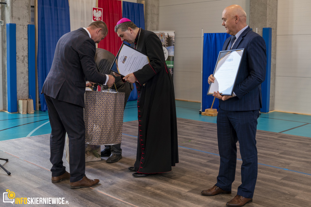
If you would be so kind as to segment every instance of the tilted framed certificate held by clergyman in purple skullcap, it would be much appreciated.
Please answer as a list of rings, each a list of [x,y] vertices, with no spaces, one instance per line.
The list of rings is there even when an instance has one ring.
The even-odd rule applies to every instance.
[[[110,70],[119,75],[126,76],[142,69],[149,62],[149,58],[144,53],[122,43]]]

